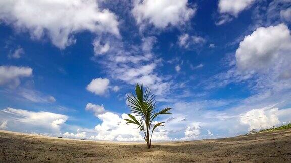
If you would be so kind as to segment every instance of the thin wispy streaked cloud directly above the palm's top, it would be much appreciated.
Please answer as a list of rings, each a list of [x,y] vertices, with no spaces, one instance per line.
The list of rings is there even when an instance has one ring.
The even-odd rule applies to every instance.
[[[119,39],[105,38],[112,47],[103,60],[94,60],[106,67],[106,72],[114,80],[123,84],[136,85],[143,83],[158,94],[168,90],[168,78],[159,74],[158,67],[162,66],[162,59],[152,54],[156,37],[142,37],[141,44],[121,42]],[[109,86],[114,90],[114,86]]]

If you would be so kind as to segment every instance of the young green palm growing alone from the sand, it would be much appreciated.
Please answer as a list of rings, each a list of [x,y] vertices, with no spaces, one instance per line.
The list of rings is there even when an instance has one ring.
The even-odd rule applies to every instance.
[[[131,112],[135,116],[140,117],[136,119],[135,116],[128,114],[130,119],[124,119],[128,123],[136,124],[139,132],[143,131],[144,140],[147,142],[148,149],[151,148],[152,135],[156,127],[164,126],[163,123],[159,122],[152,126],[153,120],[160,114],[171,114],[169,111],[171,108],[165,108],[159,112],[156,111],[155,94],[151,94],[151,91],[147,88],[146,92],[143,92],[143,86],[136,85],[135,94],[130,93],[131,96],[127,96],[127,101],[130,103],[128,106],[131,108]],[[152,129],[152,130],[151,130]]]

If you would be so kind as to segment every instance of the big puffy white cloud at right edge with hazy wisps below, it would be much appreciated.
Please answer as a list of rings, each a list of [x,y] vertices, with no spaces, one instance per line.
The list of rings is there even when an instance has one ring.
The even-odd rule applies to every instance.
[[[254,97],[267,100],[267,105],[288,101],[288,89],[291,88],[290,54],[291,35],[285,24],[259,27],[240,42],[235,53],[236,62],[230,61],[230,69],[211,77],[205,88],[248,83],[256,94]],[[277,96],[281,99],[271,98]]]

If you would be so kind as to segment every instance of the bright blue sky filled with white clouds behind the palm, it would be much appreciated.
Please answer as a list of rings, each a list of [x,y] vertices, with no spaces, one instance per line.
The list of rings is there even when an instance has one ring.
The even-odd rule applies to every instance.
[[[0,128],[142,141],[122,118],[156,92],[155,141],[291,121],[291,1],[2,1]]]

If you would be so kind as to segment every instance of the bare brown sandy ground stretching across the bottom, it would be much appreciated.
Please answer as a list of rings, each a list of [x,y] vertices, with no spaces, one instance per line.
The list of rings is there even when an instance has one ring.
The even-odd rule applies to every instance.
[[[0,130],[0,162],[291,162],[291,130],[188,142],[72,140]]]

